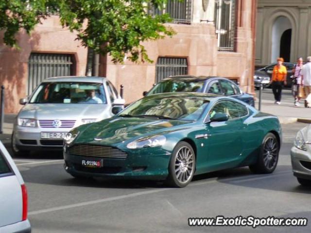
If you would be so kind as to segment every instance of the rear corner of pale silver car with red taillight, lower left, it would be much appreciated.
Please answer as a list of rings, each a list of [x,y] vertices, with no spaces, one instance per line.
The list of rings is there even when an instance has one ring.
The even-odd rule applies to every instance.
[[[0,141],[0,232],[30,233],[28,197],[23,178]]]

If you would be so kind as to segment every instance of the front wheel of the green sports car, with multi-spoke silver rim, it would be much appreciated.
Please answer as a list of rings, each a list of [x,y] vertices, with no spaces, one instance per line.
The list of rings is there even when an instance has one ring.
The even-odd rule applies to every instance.
[[[187,142],[179,142],[173,150],[169,176],[166,184],[172,187],[186,187],[192,180],[195,171],[195,153]]]

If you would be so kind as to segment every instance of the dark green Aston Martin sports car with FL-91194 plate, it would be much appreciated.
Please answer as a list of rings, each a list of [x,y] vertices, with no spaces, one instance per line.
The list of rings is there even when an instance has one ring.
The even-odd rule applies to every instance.
[[[162,93],[70,131],[64,166],[74,177],[165,180],[184,187],[193,175],[226,168],[271,173],[280,144],[277,117],[240,100]]]

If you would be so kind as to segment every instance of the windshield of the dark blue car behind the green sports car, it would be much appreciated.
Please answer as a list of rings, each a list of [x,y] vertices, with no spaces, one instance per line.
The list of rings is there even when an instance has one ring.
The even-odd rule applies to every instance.
[[[148,95],[165,92],[203,92],[204,81],[166,80],[157,83]]]

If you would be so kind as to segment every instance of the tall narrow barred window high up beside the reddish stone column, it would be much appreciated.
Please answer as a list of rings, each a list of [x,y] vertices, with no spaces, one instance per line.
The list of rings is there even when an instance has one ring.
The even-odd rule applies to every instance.
[[[215,0],[214,22],[219,51],[234,51],[236,0]]]

